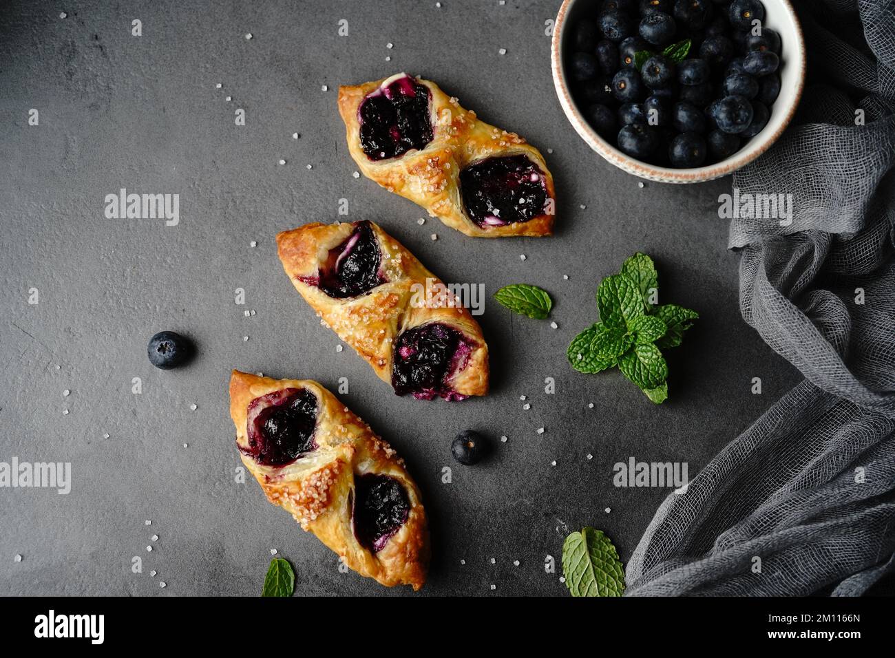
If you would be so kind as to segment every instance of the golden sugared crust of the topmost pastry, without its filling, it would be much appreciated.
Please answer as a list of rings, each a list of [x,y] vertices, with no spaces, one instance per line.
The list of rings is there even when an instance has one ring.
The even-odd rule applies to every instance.
[[[394,77],[394,76],[393,76]],[[475,113],[460,106],[432,81],[416,78],[431,91],[433,139],[423,150],[410,150],[396,158],[373,161],[361,148],[361,126],[357,110],[363,98],[388,78],[364,82],[354,87],[339,87],[338,109],[345,122],[348,151],[363,175],[376,181],[389,192],[395,192],[422,206],[430,216],[438,217],[447,226],[473,237],[505,237],[507,235],[551,235],[554,213],[539,215],[527,222],[482,228],[467,217],[460,199],[460,172],[470,163],[491,156],[524,154],[541,171],[547,183],[551,206],[555,207],[556,191],[553,176],[535,149],[515,132],[507,132],[486,124]]]

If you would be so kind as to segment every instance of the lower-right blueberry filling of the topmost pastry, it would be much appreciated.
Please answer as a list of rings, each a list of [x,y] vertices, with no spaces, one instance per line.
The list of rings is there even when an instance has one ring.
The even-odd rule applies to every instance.
[[[487,158],[460,172],[466,214],[479,226],[527,222],[544,214],[547,183],[524,155]]]

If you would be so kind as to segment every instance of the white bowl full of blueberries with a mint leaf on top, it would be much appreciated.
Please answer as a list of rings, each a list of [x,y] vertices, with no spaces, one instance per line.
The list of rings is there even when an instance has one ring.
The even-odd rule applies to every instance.
[[[788,0],[564,0],[551,60],[584,141],[662,183],[712,180],[758,158],[805,83]]]

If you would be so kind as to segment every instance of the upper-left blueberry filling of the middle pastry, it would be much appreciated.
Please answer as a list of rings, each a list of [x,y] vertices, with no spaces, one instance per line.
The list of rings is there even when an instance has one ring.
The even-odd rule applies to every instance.
[[[379,272],[381,262],[379,241],[370,222],[357,222],[348,239],[329,250],[318,276],[302,277],[302,280],[336,299],[355,297],[386,282]]]

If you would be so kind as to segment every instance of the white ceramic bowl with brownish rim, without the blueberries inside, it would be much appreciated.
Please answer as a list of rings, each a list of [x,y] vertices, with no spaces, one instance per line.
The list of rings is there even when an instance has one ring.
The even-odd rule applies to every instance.
[[[572,98],[572,90],[566,72],[567,50],[573,41],[575,22],[584,16],[596,18],[600,0],[564,0],[553,27],[550,62],[553,67],[553,83],[559,103],[568,120],[582,139],[616,167],[630,174],[660,183],[700,183],[728,175],[743,167],[771,147],[789,124],[796,112],[802,88],[805,85],[805,39],[795,11],[789,0],[762,0],[765,9],[764,24],[780,34],[780,96],[771,106],[771,118],[742,149],[713,165],[692,169],[658,167],[631,158],[614,145],[601,138],[582,115],[582,108]]]

